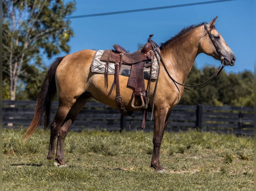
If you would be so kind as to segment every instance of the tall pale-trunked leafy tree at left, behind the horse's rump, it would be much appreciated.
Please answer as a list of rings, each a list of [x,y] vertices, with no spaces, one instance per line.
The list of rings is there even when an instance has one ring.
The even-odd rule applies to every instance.
[[[70,51],[67,42],[74,33],[65,17],[74,9],[74,2],[62,0],[3,0],[3,81],[11,100],[19,80],[31,79],[31,64],[43,69],[43,54],[51,58]]]

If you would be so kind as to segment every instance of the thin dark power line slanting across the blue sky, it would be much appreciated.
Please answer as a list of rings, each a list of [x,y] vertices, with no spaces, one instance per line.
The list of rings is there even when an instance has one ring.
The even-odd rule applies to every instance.
[[[76,19],[76,18],[82,18],[82,17],[96,17],[96,16],[105,16],[105,15],[116,15],[116,14],[123,14],[123,13],[132,13],[132,12],[140,12],[140,11],[152,11],[152,10],[159,10],[159,9],[170,9],[170,8],[176,8],[176,7],[186,7],[186,6],[193,6],[193,5],[221,3],[221,2],[225,2],[225,1],[236,1],[236,0],[206,1],[206,2],[198,2],[198,3],[187,3],[187,4],[180,4],[180,5],[170,5],[170,6],[163,6],[163,7],[152,7],[152,8],[145,8],[145,9],[134,9],[134,10],[127,10],[127,11],[115,11],[115,12],[108,12],[108,13],[96,13],[96,14],[89,14],[89,15],[78,15],[78,16],[66,17],[66,19]]]

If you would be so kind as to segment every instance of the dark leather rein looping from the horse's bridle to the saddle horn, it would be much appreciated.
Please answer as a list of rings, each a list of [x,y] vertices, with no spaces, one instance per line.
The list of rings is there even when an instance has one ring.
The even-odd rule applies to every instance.
[[[175,80],[171,77],[171,75],[169,74],[169,72],[168,72],[168,70],[167,70],[167,68],[166,68],[166,66],[165,66],[165,64],[164,64],[164,62],[163,62],[163,59],[162,59],[162,57],[161,57],[161,54],[160,54],[160,52],[159,52],[158,49],[157,49],[159,46],[158,46],[154,41],[152,41],[151,38],[148,39],[148,42],[150,42],[151,45],[152,45],[152,50],[153,50],[153,52],[155,53],[155,55],[156,55],[156,53],[159,55],[160,60],[161,60],[161,62],[162,62],[162,65],[163,65],[163,67],[164,67],[164,70],[165,70],[165,72],[167,73],[167,75],[169,76],[169,78],[175,83],[175,85],[178,84],[178,85],[184,86],[184,89],[189,90],[189,91],[199,90],[199,89],[201,89],[201,88],[207,86],[208,84],[210,84],[210,83],[220,74],[220,72],[222,71],[222,69],[225,67],[225,66],[224,66],[224,57],[223,57],[222,54],[221,54],[221,48],[219,47],[219,45],[218,45],[218,43],[216,42],[216,40],[215,40],[215,38],[213,37],[213,35],[211,34],[211,31],[209,31],[209,30],[207,29],[206,24],[204,25],[204,27],[205,27],[206,32],[207,32],[208,35],[209,35],[209,38],[211,39],[211,41],[212,41],[212,43],[213,43],[213,45],[214,45],[214,47],[215,47],[215,49],[216,49],[218,55],[220,56],[221,65],[219,66],[219,68],[216,70],[216,72],[215,72],[207,81],[205,81],[205,82],[203,82],[203,83],[201,83],[201,84],[197,84],[197,85],[185,85],[185,84],[181,84],[181,83],[178,83],[177,81],[175,81]],[[152,35],[152,36],[153,36],[153,35]],[[157,57],[156,57],[156,58],[157,58]],[[158,61],[158,65],[159,65],[160,62],[159,62],[158,58],[157,58],[157,61]],[[158,71],[158,72],[159,72],[159,71]],[[204,85],[204,86],[202,86],[202,85]],[[156,86],[157,86],[157,83],[156,83]],[[187,88],[186,88],[186,87],[197,87],[197,86],[201,86],[201,87],[199,87],[199,88],[197,88],[197,89],[193,89],[193,90],[190,90],[190,89],[187,89]],[[176,85],[176,87],[177,87],[177,85]],[[156,89],[155,89],[155,90],[156,90]]]

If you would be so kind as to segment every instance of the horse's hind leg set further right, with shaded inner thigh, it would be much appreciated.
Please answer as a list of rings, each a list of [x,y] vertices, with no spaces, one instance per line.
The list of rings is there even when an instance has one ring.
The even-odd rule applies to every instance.
[[[69,113],[67,114],[67,117],[64,120],[64,124],[60,127],[58,131],[58,138],[57,138],[57,150],[56,150],[56,158],[55,160],[61,165],[65,166],[66,163],[63,160],[63,150],[64,150],[64,140],[67,136],[70,126],[77,118],[77,115],[79,111],[83,108],[83,106],[86,104],[86,101],[91,98],[90,95],[83,94],[81,95],[74,105],[71,107]]]

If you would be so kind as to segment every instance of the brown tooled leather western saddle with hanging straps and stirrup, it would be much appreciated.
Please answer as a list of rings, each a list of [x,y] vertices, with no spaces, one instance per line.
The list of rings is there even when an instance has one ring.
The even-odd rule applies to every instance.
[[[152,71],[151,63],[153,63],[154,56],[155,56],[154,49],[158,47],[158,45],[151,40],[152,36],[153,35],[149,35],[148,42],[143,46],[143,48],[134,53],[128,53],[123,47],[115,44],[113,45],[115,50],[104,51],[100,59],[100,61],[106,62],[104,76],[105,76],[105,87],[107,88],[108,88],[109,62],[115,63],[114,81],[110,88],[108,96],[110,96],[115,86],[117,105],[118,105],[119,111],[123,116],[131,116],[132,111],[128,111],[128,112],[126,111],[124,102],[120,95],[119,71],[122,64],[131,66],[127,87],[132,88],[134,90],[133,99],[131,103],[132,107],[139,108],[143,112],[143,121],[141,125],[142,129],[145,128],[146,115],[147,115],[148,102],[149,102],[147,91],[145,90],[143,67],[150,67],[150,80],[149,80],[149,83],[150,83],[151,71]],[[149,89],[150,89],[150,84],[149,84],[148,92],[149,92]],[[140,106],[134,105],[136,98],[138,99],[138,103],[140,104]]]

